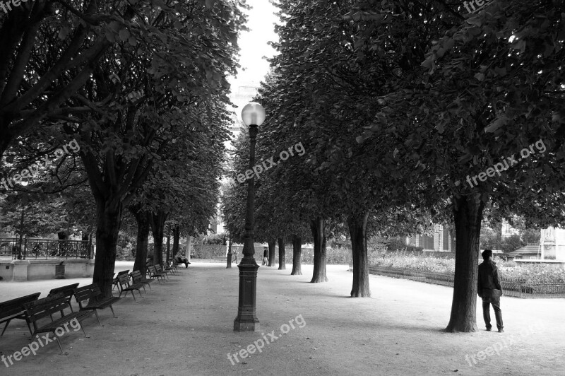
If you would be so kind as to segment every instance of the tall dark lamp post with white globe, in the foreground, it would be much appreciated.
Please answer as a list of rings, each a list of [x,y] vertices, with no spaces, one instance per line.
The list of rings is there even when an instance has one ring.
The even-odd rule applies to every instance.
[[[255,143],[257,127],[265,121],[265,109],[256,102],[248,103],[242,110],[243,122],[249,126],[249,168],[255,165]],[[247,211],[245,216],[245,233],[243,240],[243,258],[237,265],[239,268],[239,303],[237,317],[234,319],[234,331],[258,331],[259,320],[256,315],[255,298],[257,293],[258,265],[253,257],[254,246],[254,205],[255,179],[247,179]]]

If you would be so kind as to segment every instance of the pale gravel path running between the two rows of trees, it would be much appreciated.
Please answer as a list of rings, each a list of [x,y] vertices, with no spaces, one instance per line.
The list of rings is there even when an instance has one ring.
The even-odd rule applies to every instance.
[[[370,276],[373,297],[349,298],[347,266],[328,266],[330,281],[317,284],[309,283],[312,266],[303,266],[302,276],[290,276],[291,265],[282,271],[261,267],[261,332],[235,333],[237,267],[193,261],[167,283],[154,282],[138,302],[129,295],[117,303],[117,319],[102,311],[104,327],[94,316],[87,319],[90,338],[82,331],[64,334],[65,355],[49,343],[9,368],[0,363],[0,375],[562,375],[564,370],[564,299],[503,297],[505,333],[447,334],[442,329],[451,288]],[[132,265],[120,263],[117,270]],[[36,291],[44,296],[73,281],[90,283],[2,281],[0,301]],[[483,329],[480,305],[477,320]],[[0,355],[30,343],[21,323],[11,323],[1,337]],[[258,353],[250,345],[261,347],[260,340]],[[233,354],[248,347],[254,354],[237,361]]]

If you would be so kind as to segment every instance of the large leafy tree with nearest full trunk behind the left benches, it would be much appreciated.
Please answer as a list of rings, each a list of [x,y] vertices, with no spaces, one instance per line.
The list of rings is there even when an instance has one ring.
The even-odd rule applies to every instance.
[[[93,281],[105,295],[112,288],[121,214],[153,168],[167,169],[167,160],[160,155],[192,150],[190,132],[229,121],[229,85],[223,74],[235,73],[236,39],[244,20],[237,4],[215,1],[210,8],[179,2],[174,8],[155,9],[148,16],[155,39],[137,45],[128,38],[109,49],[109,58],[96,66],[92,82],[73,97],[96,109],[88,119],[66,118],[65,131],[81,143],[81,159],[97,204]],[[97,104],[107,98],[112,99],[108,110],[100,108]],[[155,215],[158,236],[166,213]]]

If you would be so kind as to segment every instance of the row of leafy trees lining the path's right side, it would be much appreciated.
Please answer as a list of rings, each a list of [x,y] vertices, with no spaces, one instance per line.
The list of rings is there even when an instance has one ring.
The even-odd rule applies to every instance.
[[[261,175],[258,238],[310,228],[321,282],[327,223],[349,230],[351,295],[369,296],[368,232],[452,225],[447,330],[476,331],[482,221],[564,220],[564,4],[500,0],[472,15],[439,0],[275,4],[279,54],[256,98],[267,112],[257,160],[296,143],[307,154]],[[248,168],[239,142],[234,181]],[[244,188],[224,194],[230,233],[242,234]]]

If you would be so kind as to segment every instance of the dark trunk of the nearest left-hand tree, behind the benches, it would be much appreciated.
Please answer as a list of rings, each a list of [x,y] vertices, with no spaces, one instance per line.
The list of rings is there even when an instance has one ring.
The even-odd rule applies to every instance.
[[[111,205],[105,199],[96,200],[96,257],[93,283],[105,297],[112,296],[112,278],[116,264],[116,246],[121,225],[121,202]]]

